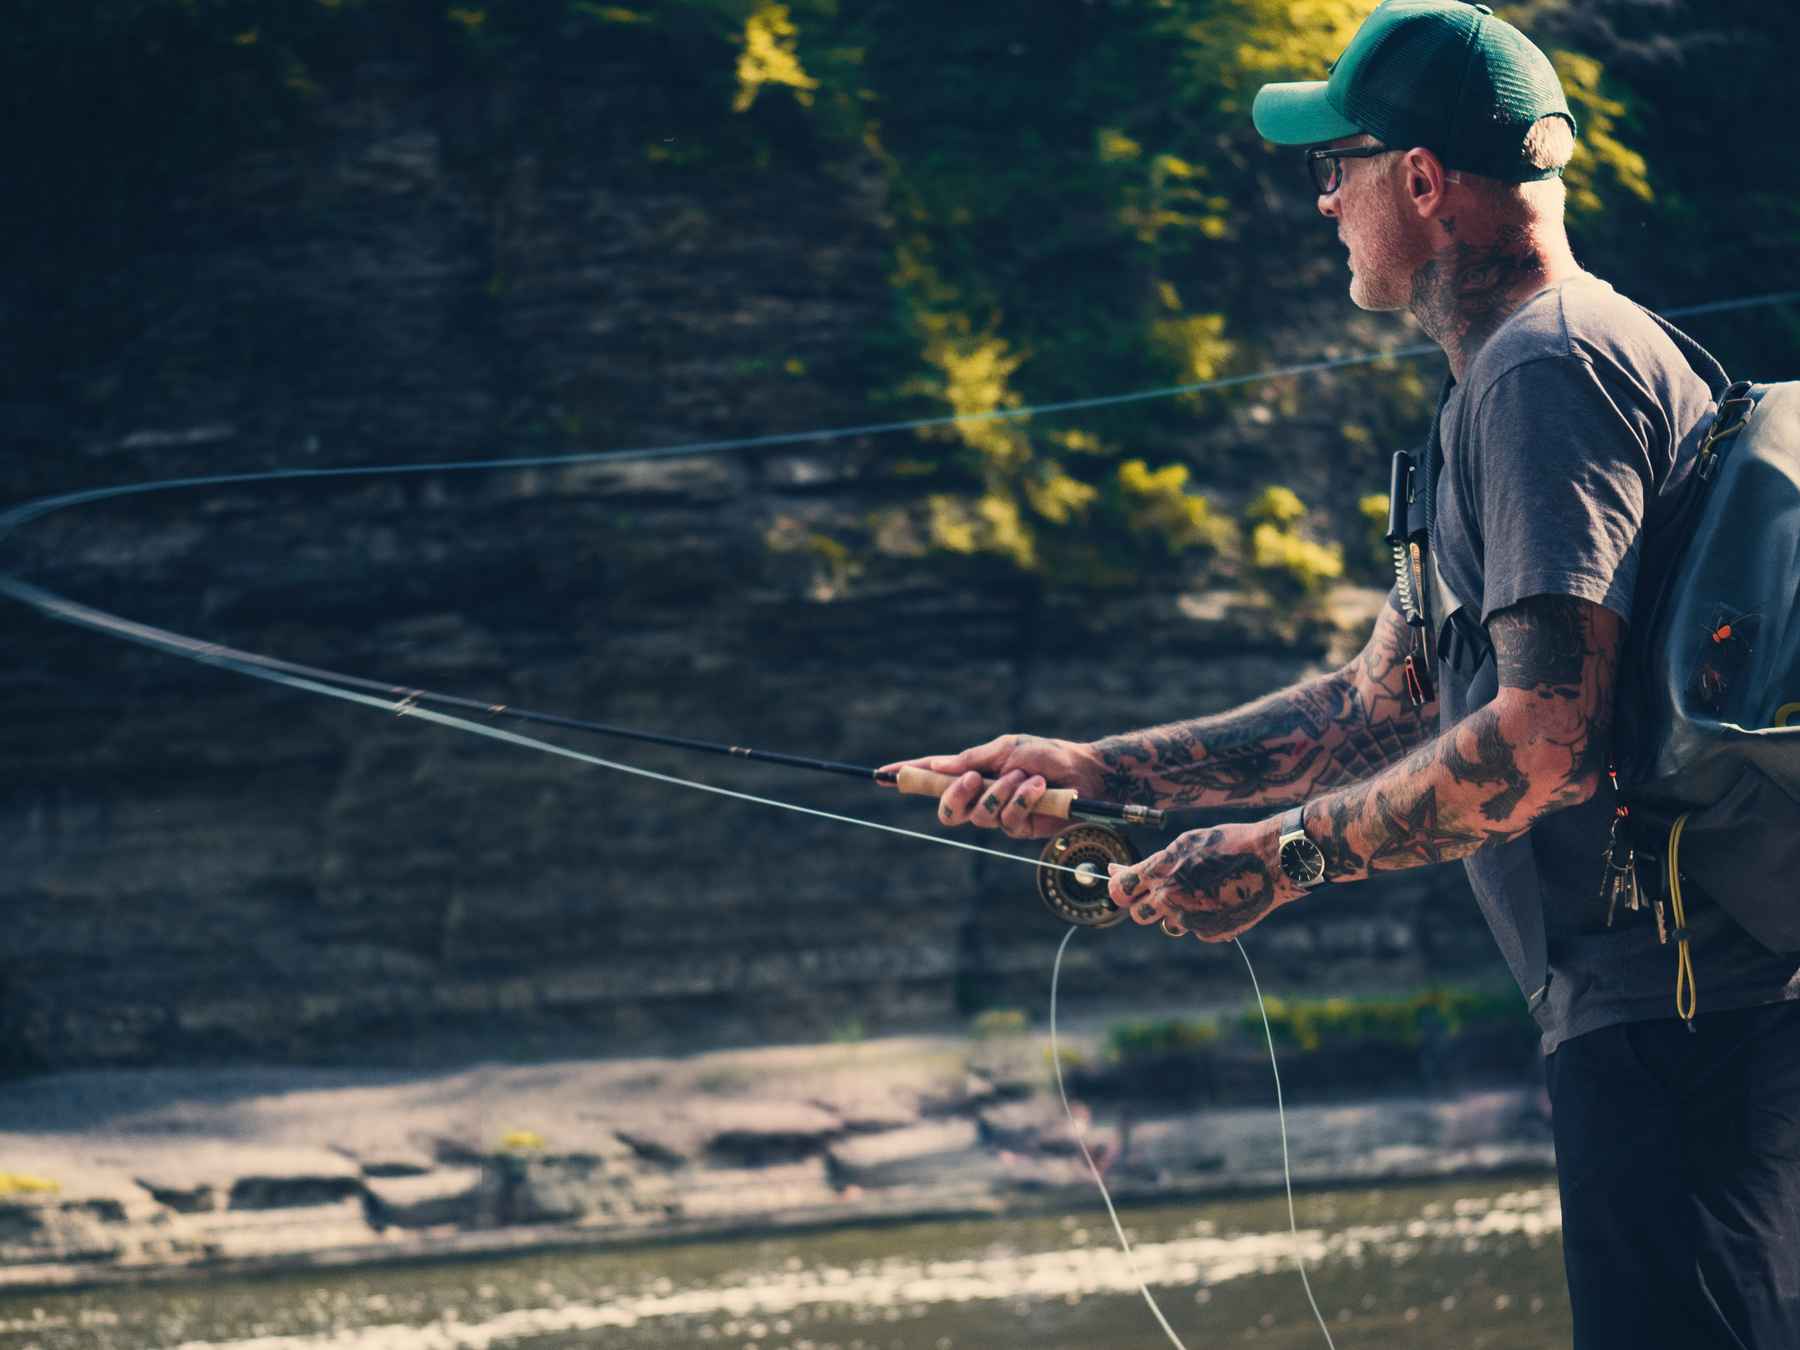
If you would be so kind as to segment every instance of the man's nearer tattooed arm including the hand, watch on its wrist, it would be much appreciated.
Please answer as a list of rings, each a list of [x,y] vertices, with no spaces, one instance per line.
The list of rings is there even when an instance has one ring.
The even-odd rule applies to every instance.
[[[1494,700],[1307,808],[1325,875],[1348,882],[1460,859],[1591,797],[1611,742],[1622,628],[1611,610],[1568,596],[1537,596],[1489,619]],[[1139,923],[1235,938],[1305,895],[1276,864],[1276,833],[1274,821],[1192,830],[1134,868],[1116,868],[1112,900]]]

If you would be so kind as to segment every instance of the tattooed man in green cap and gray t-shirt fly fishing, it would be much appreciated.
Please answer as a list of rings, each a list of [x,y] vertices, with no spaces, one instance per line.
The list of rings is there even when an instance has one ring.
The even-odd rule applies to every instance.
[[[1433,545],[1465,635],[1435,698],[1409,697],[1390,596],[1357,661],[1247,707],[920,760],[959,776],[940,817],[1048,835],[1062,823],[1031,808],[1049,785],[1283,808],[1114,869],[1134,920],[1204,941],[1375,871],[1463,859],[1543,1028],[1579,1350],[1793,1350],[1796,961],[1696,904],[1690,1026],[1672,1015],[1674,947],[1649,911],[1609,916],[1600,887],[1622,634],[1712,391],[1570,252],[1575,119],[1550,61],[1485,5],[1388,0],[1328,81],[1269,85],[1253,117],[1310,146],[1350,299],[1409,311],[1449,358]]]

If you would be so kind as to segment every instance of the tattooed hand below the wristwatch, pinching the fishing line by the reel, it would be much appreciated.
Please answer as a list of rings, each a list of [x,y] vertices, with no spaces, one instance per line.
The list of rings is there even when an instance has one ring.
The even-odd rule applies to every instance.
[[[1190,830],[1136,868],[1112,864],[1107,895],[1138,923],[1229,941],[1305,895],[1276,862],[1278,833],[1274,821]]]

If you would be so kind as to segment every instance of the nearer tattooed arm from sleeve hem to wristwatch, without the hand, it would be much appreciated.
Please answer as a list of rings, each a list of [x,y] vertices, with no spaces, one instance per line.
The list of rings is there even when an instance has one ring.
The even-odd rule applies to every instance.
[[[1501,691],[1436,740],[1307,815],[1327,875],[1465,857],[1593,794],[1611,736],[1620,623],[1539,598],[1489,623]]]

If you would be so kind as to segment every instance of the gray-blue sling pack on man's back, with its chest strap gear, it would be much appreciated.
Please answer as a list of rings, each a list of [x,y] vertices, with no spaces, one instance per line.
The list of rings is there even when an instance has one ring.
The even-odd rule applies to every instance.
[[[1633,905],[1649,896],[1678,947],[1676,1008],[1692,1019],[1683,886],[1769,950],[1800,952],[1800,383],[1728,385],[1705,347],[1651,317],[1708,382],[1717,412],[1640,560],[1615,691],[1618,808],[1602,886]],[[1487,648],[1478,612],[1431,556],[1440,464],[1433,419],[1422,450],[1395,455],[1390,502],[1390,544],[1409,583],[1400,599],[1427,668],[1445,643]]]

